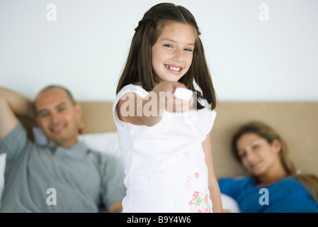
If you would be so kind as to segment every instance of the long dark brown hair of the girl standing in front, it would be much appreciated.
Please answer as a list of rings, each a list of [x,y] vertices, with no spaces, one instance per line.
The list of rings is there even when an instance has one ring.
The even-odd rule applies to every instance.
[[[140,84],[145,90],[151,91],[159,83],[159,77],[152,67],[152,46],[157,42],[159,35],[167,23],[187,23],[193,27],[196,34],[193,60],[188,72],[179,79],[188,89],[197,92],[197,96],[204,98],[213,110],[216,106],[216,94],[212,84],[208,64],[202,42],[199,38],[200,31],[195,18],[188,9],[171,3],[161,3],[152,6],[135,28],[127,61],[120,76],[116,94],[127,84]],[[193,80],[201,92],[195,89]],[[203,106],[197,102],[197,108]]]

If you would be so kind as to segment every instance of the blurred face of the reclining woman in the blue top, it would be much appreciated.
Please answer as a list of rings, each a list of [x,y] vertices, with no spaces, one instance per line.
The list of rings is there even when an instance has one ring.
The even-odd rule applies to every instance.
[[[281,144],[279,140],[268,141],[256,133],[246,133],[237,140],[238,155],[246,170],[260,177],[280,165]]]

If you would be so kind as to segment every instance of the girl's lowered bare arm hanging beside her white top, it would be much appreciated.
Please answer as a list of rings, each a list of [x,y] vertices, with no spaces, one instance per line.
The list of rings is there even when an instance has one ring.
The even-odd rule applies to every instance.
[[[209,180],[209,189],[210,189],[210,198],[212,201],[212,210],[214,213],[222,213],[222,201],[221,201],[221,192],[219,184],[217,184],[217,178],[215,177],[213,159],[212,159],[212,148],[210,133],[208,133],[207,138],[202,143],[203,150],[205,153],[205,163],[208,166],[208,180]]]

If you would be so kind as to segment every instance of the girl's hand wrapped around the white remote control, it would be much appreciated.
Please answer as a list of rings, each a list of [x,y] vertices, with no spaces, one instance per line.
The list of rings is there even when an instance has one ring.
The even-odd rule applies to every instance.
[[[177,87],[186,88],[179,82],[161,82],[157,84],[152,92],[157,94],[158,106],[169,112],[184,112],[193,106],[193,98],[190,100],[176,99],[174,91]]]

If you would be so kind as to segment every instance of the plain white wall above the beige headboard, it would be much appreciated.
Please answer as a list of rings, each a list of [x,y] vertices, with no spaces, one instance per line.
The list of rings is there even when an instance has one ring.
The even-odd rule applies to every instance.
[[[0,0],[0,86],[33,99],[64,84],[78,100],[113,101],[134,29],[159,2]],[[317,0],[171,2],[198,22],[220,101],[318,101]]]

